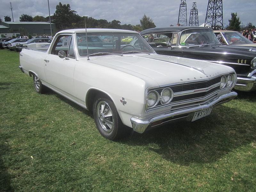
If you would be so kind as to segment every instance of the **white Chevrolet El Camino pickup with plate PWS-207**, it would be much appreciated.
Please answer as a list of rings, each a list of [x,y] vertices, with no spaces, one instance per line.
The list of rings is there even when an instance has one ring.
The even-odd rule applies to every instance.
[[[33,76],[36,92],[48,87],[92,110],[99,132],[111,140],[195,121],[237,96],[233,68],[158,55],[128,30],[60,31],[49,48],[23,49],[20,69]]]

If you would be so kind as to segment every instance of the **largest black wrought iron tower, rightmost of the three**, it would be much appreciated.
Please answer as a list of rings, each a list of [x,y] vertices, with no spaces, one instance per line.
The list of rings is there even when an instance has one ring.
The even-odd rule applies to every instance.
[[[204,27],[223,29],[222,0],[209,0]]]

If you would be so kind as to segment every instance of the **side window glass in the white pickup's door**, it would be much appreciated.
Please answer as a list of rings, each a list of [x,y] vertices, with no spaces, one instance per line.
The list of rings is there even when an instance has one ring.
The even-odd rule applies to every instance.
[[[66,52],[66,55],[68,55],[68,48],[71,40],[71,35],[60,35],[57,37],[51,54],[53,55],[58,55],[59,51],[64,51]]]

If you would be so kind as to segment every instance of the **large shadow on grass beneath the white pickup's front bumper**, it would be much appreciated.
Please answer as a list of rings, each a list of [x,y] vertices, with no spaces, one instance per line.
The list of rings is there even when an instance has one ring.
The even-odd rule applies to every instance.
[[[210,116],[195,122],[179,122],[143,134],[134,133],[119,142],[146,146],[166,160],[181,165],[211,163],[255,141],[255,123],[255,115],[251,113],[218,106]]]

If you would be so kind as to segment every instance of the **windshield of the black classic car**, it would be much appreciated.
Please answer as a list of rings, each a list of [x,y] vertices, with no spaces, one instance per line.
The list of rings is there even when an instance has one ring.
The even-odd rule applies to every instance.
[[[188,29],[181,33],[180,45],[220,44],[210,29]]]

